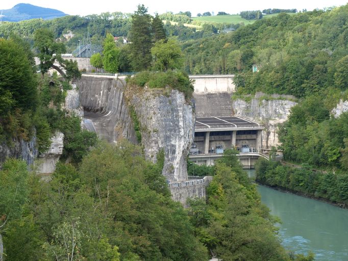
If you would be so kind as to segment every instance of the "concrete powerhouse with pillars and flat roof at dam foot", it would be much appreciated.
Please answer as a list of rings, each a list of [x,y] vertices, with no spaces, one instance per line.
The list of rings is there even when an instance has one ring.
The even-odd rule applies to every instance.
[[[261,131],[255,121],[237,116],[198,117],[189,159],[199,165],[214,165],[223,151],[235,148],[244,168],[253,168],[261,154]]]

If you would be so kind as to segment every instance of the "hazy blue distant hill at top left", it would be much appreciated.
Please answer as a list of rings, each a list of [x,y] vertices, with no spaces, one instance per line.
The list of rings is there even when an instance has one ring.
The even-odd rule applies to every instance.
[[[18,4],[7,10],[0,10],[3,12],[3,21],[18,22],[22,20],[29,20],[34,18],[42,18],[45,20],[62,17],[67,14],[62,11],[33,6],[31,4]]]

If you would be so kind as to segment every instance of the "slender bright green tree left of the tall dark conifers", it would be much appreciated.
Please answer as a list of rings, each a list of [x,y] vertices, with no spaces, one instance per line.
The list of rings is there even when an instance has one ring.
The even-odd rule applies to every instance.
[[[104,69],[111,73],[118,72],[118,58],[120,50],[117,48],[112,34],[107,34],[103,42],[103,65]]]

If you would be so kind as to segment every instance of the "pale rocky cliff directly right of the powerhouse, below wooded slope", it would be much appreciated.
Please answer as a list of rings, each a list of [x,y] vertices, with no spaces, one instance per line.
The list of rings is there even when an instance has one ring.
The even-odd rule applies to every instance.
[[[265,129],[262,131],[262,148],[280,145],[278,139],[278,124],[287,120],[290,109],[297,104],[294,97],[289,95],[272,95],[269,99],[262,99],[264,94],[257,93],[250,102],[242,99],[232,101],[234,115],[261,122]]]

